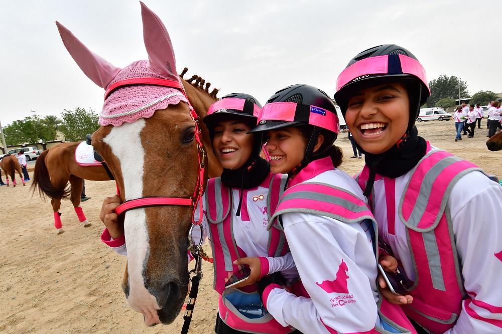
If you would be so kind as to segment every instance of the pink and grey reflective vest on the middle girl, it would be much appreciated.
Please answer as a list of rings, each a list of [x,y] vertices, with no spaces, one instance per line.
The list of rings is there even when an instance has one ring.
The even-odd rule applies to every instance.
[[[315,182],[295,185],[284,192],[276,212],[269,220],[269,228],[274,225],[282,229],[280,215],[295,212],[330,217],[346,224],[359,224],[362,220],[369,220],[366,233],[373,242],[373,253],[375,260],[378,260],[378,247],[375,242],[378,240],[376,221],[366,204],[352,193],[335,186]],[[382,322],[393,327],[399,333],[416,333],[403,311],[397,305],[393,305],[383,298],[380,291],[377,306]],[[334,332],[332,328],[326,327],[326,329]],[[375,326],[367,333],[382,332],[387,331]]]

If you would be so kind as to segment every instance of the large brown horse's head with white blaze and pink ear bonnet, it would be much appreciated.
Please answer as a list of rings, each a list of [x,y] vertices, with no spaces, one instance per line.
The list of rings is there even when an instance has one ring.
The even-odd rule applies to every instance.
[[[143,3],[141,7],[148,61],[123,69],[90,52],[57,25],[79,67],[107,90],[101,127],[92,135],[92,145],[112,172],[122,202],[148,197],[190,202],[194,192],[202,192],[199,169],[208,165],[207,160],[210,177],[222,171],[211,150],[199,164],[201,149],[190,111],[191,105],[199,119],[204,117],[217,91],[209,94],[200,78],[195,84],[191,84],[193,77],[190,83],[180,79],[166,28]],[[152,98],[154,92],[161,93]],[[168,97],[176,101],[159,102]],[[121,104],[126,100],[128,104]],[[210,147],[207,129],[197,123],[203,143]],[[129,305],[143,313],[146,325],[171,323],[182,308],[188,289],[187,236],[192,216],[193,207],[182,205],[140,207],[120,216],[128,251],[122,289]]]

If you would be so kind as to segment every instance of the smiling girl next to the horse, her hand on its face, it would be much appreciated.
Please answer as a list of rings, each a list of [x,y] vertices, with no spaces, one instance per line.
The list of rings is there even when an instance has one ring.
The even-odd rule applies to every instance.
[[[298,332],[268,314],[257,292],[256,282],[268,274],[281,272],[289,281],[298,278],[284,233],[276,228],[267,231],[268,203],[277,204],[282,190],[275,186],[269,191],[271,181],[279,185],[281,177],[270,173],[269,162],[260,157],[261,135],[248,133],[256,126],[260,111],[261,105],[253,96],[234,93],[213,103],[203,118],[223,173],[207,182],[202,198],[203,233],[201,236],[196,228],[192,238],[199,243],[201,237],[205,240],[207,236],[211,245],[213,287],[219,294],[215,325],[218,334]],[[107,227],[116,226],[113,209],[118,201],[118,197],[105,200],[101,217]],[[194,214],[196,222],[199,213],[196,210]],[[122,234],[123,229],[108,228],[102,240],[123,254],[126,250]],[[110,242],[111,238],[114,240]],[[242,266],[249,276],[228,287],[228,279]]]

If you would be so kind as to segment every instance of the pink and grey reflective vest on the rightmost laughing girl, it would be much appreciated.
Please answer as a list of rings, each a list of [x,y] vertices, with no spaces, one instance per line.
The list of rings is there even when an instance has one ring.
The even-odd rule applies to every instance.
[[[364,169],[368,172],[366,166]],[[467,298],[447,204],[456,182],[473,171],[496,178],[453,154],[432,150],[415,166],[399,203],[398,214],[406,226],[416,277],[408,289],[413,303],[402,308],[407,316],[434,333],[454,326],[462,300]],[[356,181],[364,189],[367,180],[362,175],[368,173],[363,170]],[[370,202],[373,198],[371,195]]]

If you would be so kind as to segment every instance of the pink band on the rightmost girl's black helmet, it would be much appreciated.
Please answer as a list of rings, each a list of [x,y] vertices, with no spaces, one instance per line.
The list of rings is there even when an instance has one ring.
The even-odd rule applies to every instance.
[[[417,60],[399,54],[399,61],[401,62],[401,71],[403,74],[414,75],[422,81],[430,93],[429,84],[425,69]],[[347,67],[338,76],[336,80],[336,91],[338,92],[343,86],[351,81],[357,81],[372,74],[390,74],[389,73],[389,55],[368,57]]]

